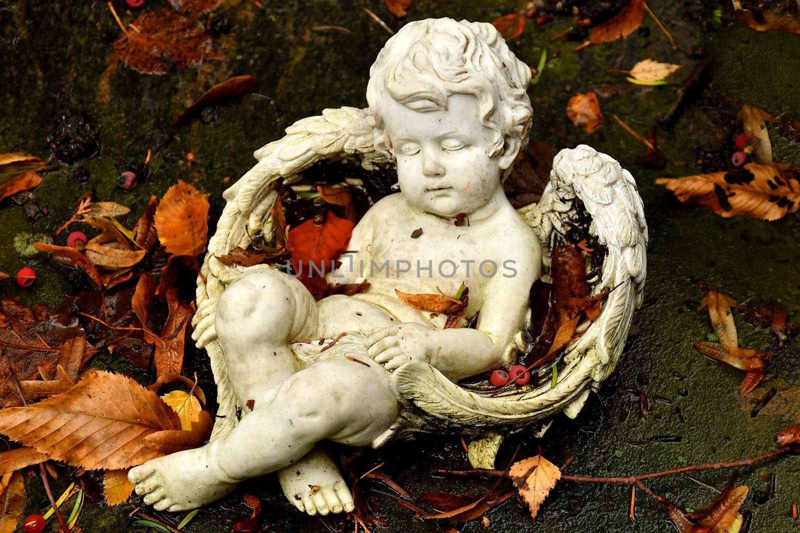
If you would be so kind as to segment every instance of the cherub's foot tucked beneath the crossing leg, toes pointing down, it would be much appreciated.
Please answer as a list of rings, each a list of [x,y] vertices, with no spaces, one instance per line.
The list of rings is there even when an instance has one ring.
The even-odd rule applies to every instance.
[[[333,459],[324,451],[313,450],[296,463],[278,471],[286,499],[309,515],[350,512],[353,495]]]

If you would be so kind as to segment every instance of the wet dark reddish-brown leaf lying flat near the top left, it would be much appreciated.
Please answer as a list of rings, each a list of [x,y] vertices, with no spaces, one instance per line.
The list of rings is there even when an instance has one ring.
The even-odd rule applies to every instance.
[[[179,70],[208,59],[224,58],[214,50],[211,38],[194,18],[169,9],[146,11],[129,30],[114,41],[114,54],[142,74],[165,74],[174,63]]]

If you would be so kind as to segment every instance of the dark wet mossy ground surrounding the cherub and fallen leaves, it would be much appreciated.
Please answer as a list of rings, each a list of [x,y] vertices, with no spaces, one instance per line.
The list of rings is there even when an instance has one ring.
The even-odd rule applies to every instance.
[[[151,5],[166,2],[152,0]],[[415,0],[408,18],[450,16],[490,22],[499,15],[520,9],[523,2],[478,2],[477,0]],[[598,2],[599,3],[599,2]],[[115,2],[121,15],[122,2]],[[29,152],[47,157],[47,134],[62,113],[81,111],[99,130],[99,152],[82,161],[90,179],[79,182],[73,165],[63,173],[51,173],[37,189],[38,206],[49,215],[34,225],[26,213],[9,201],[0,207],[0,270],[16,272],[24,264],[37,269],[34,288],[0,285],[3,296],[22,298],[31,304],[58,306],[70,285],[63,270],[42,255],[20,257],[13,248],[22,231],[51,233],[69,216],[68,207],[85,190],[96,199],[114,200],[130,206],[138,217],[150,194],[159,197],[178,178],[210,193],[212,222],[222,209],[224,177],[236,179],[254,163],[254,149],[282,135],[282,129],[301,117],[326,107],[366,105],[364,92],[368,70],[388,35],[359,9],[374,10],[395,30],[395,20],[378,0],[357,2],[270,2],[262,8],[244,0],[230,0],[218,10],[231,25],[230,33],[218,35],[218,48],[228,58],[210,62],[199,70],[163,76],[135,73],[118,63],[111,43],[118,26],[105,2],[0,2],[0,153]],[[530,437],[521,453],[531,455],[539,444],[544,454],[562,463],[576,459],[568,472],[583,475],[630,475],[661,471],[685,464],[732,460],[757,455],[774,447],[778,428],[800,420],[800,341],[795,339],[776,351],[770,371],[750,396],[737,395],[741,375],[707,360],[694,351],[692,340],[710,332],[706,312],[697,312],[702,298],[694,280],[710,286],[722,284],[738,300],[778,300],[798,312],[800,296],[800,224],[792,215],[783,221],[725,220],[699,207],[678,205],[670,193],[654,185],[661,176],[684,176],[722,168],[730,157],[729,133],[718,135],[718,116],[734,116],[742,104],[774,114],[800,114],[800,37],[770,32],[760,34],[730,18],[725,2],[664,2],[653,0],[652,9],[692,58],[672,50],[649,18],[646,30],[626,40],[590,47],[579,54],[577,44],[567,40],[550,42],[566,30],[571,18],[560,18],[542,28],[529,24],[521,38],[510,43],[519,58],[535,65],[542,47],[558,53],[547,63],[538,86],[530,89],[534,105],[531,138],[555,148],[581,142],[610,153],[638,178],[646,201],[650,226],[649,271],[646,299],[651,304],[638,312],[638,336],[630,342],[619,364],[619,372],[601,394],[611,417],[603,416],[596,397],[589,400],[578,420],[559,418],[540,443]],[[712,10],[722,10],[721,22],[713,22]],[[352,33],[318,32],[313,26],[346,26]],[[704,30],[706,28],[707,31]],[[676,97],[678,85],[642,88],[627,86],[622,76],[606,70],[630,69],[640,59],[686,63],[675,78],[685,78],[697,59],[714,51],[710,83],[690,101],[677,125],[658,131],[658,144],[666,154],[666,169],[642,166],[644,149],[612,120],[614,113],[644,133],[666,113]],[[262,78],[258,93],[215,110],[216,120],[178,132],[177,142],[158,153],[151,176],[133,192],[118,189],[120,172],[132,161],[142,161],[146,148],[161,141],[170,123],[203,91],[232,75],[252,74]],[[566,101],[575,92],[596,90],[606,122],[594,133],[575,128],[565,114]],[[603,96],[605,95],[605,96]],[[718,121],[717,121],[718,123]],[[775,161],[800,163],[800,147],[770,129]],[[194,154],[194,161],[186,160]],[[696,165],[698,157],[707,163]],[[681,164],[683,162],[683,164]],[[135,220],[135,219],[134,219]],[[740,343],[749,348],[775,349],[774,339],[759,332],[742,317],[737,318]],[[106,356],[95,363],[130,373],[150,383],[152,374],[128,368]],[[639,376],[645,376],[647,384]],[[677,377],[676,377],[677,376]],[[775,387],[778,396],[758,417],[751,417],[752,404]],[[206,392],[210,386],[206,385]],[[650,416],[644,421],[635,408],[620,420],[624,397],[618,388],[638,388],[650,396]],[[685,389],[685,392],[681,392]],[[673,404],[653,400],[663,396]],[[680,416],[678,415],[680,409]],[[681,436],[679,444],[656,444],[654,436]],[[448,451],[447,448],[455,451]],[[505,466],[514,446],[506,444],[498,465]],[[428,490],[480,494],[493,483],[487,479],[439,479],[432,467],[464,467],[466,458],[457,440],[430,440],[398,444],[374,453],[374,463],[385,461],[384,471],[417,496]],[[522,455],[522,456],[527,456]],[[750,531],[800,531],[800,523],[789,518],[790,506],[800,499],[798,459],[744,468],[740,483],[751,487],[742,511],[753,514]],[[766,489],[765,475],[777,475],[777,491],[762,505],[754,503],[754,491]],[[722,487],[728,472],[708,472],[698,477]],[[68,476],[56,482],[57,489]],[[699,509],[714,498],[714,491],[676,476],[650,483],[684,507]],[[378,486],[378,490],[386,490]],[[262,523],[270,531],[326,531],[318,518],[298,515],[278,491],[274,479],[258,479],[246,491],[261,495],[265,506]],[[60,491],[59,491],[60,493]],[[230,523],[248,511],[242,493],[203,510],[188,531],[229,531]],[[629,487],[562,483],[548,499],[537,523],[526,509],[510,501],[491,511],[489,531],[670,531],[665,509],[643,495],[639,498],[638,522],[627,516]],[[439,531],[432,523],[415,520],[394,500],[378,494],[382,513],[390,521],[389,531]],[[46,508],[38,477],[28,481],[28,512]],[[87,503],[78,525],[83,531],[137,531],[128,514],[134,507],[106,508]],[[163,516],[163,515],[162,515]],[[180,519],[180,516],[178,517]],[[352,527],[352,523],[350,526]],[[483,531],[479,523],[463,531]]]

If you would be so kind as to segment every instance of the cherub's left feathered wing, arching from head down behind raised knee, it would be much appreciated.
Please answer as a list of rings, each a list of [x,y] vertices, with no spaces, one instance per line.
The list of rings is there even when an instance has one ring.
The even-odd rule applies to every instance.
[[[385,163],[386,157],[374,149],[372,124],[366,109],[342,107],[325,109],[320,117],[308,117],[286,129],[286,137],[256,150],[254,165],[234,185],[225,191],[227,201],[219,218],[217,231],[208,244],[208,253],[198,276],[197,304],[192,324],[192,338],[198,348],[206,348],[211,370],[217,382],[218,418],[212,440],[227,435],[237,422],[240,407],[228,383],[225,358],[214,329],[214,313],[222,291],[242,272],[250,268],[270,268],[267,265],[242,267],[223,265],[217,257],[227,255],[237,246],[246,248],[253,235],[261,231],[267,241],[273,235],[271,209],[277,198],[280,182],[297,180],[298,173],[322,160],[353,158],[366,169]]]

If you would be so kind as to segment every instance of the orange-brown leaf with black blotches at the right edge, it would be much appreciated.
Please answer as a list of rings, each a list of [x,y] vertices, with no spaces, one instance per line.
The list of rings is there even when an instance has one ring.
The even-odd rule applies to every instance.
[[[687,177],[660,177],[678,201],[700,204],[721,217],[777,221],[800,207],[798,167],[748,163],[744,169]]]

